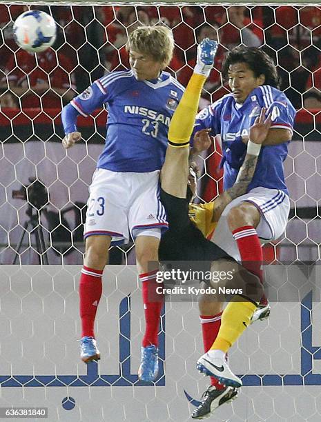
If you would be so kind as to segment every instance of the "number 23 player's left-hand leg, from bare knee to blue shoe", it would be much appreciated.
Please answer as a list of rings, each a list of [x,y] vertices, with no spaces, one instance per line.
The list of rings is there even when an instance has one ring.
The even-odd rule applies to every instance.
[[[81,317],[81,360],[85,363],[100,359],[95,340],[95,316],[101,298],[101,277],[108,259],[110,236],[90,236],[86,239],[84,268],[79,282]]]

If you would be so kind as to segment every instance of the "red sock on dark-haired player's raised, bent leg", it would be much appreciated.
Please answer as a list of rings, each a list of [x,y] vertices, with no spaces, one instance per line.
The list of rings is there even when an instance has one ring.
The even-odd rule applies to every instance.
[[[249,270],[252,274],[257,275],[262,283],[263,252],[260,239],[257,236],[255,228],[253,225],[244,225],[243,227],[233,230],[232,234],[237,243],[237,248],[240,251],[242,265],[246,268],[246,270]],[[265,296],[262,297],[260,303],[267,303]]]

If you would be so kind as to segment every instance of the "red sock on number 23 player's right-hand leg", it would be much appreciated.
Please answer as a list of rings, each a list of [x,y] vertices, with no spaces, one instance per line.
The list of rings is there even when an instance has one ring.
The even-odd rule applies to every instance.
[[[163,283],[157,283],[156,273],[158,270],[139,274],[139,281],[142,281],[142,294],[145,312],[145,335],[142,342],[144,348],[148,345],[158,345],[158,332],[160,314],[164,303],[164,295],[157,294],[157,288],[164,288]]]

